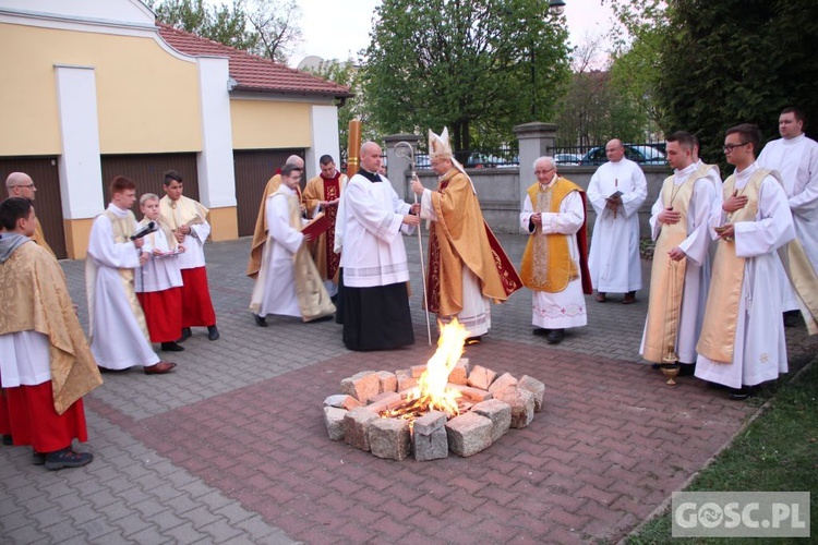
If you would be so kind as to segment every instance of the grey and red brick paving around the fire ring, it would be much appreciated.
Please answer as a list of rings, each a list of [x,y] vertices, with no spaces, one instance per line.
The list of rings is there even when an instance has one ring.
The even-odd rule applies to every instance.
[[[524,237],[501,235],[519,263]],[[48,472],[0,447],[0,543],[587,543],[616,541],[709,460],[755,411],[639,361],[635,305],[587,298],[589,326],[558,347],[531,335],[530,294],[492,310],[472,363],[546,385],[544,410],[470,458],[381,460],[326,436],[321,403],[365,370],[422,364],[417,240],[408,239],[417,343],[354,353],[340,326],[255,327],[250,241],[209,244],[221,339],[203,328],[167,376],[105,375],[86,398],[92,464]],[[645,263],[646,280],[648,274]],[[63,262],[87,322],[82,262]],[[787,329],[791,362],[818,353]],[[166,354],[167,355],[167,354]]]

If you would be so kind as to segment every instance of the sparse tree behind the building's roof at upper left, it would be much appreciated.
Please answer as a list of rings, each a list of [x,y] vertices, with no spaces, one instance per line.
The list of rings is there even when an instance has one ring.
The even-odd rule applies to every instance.
[[[236,49],[250,50],[256,46],[258,35],[248,31],[244,1],[232,7],[205,7],[203,0],[163,0],[149,2],[156,19],[176,28],[196,34]]]

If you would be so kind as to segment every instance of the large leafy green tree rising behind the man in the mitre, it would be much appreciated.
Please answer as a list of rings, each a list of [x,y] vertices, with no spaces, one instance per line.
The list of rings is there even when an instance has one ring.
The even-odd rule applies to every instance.
[[[449,128],[456,152],[512,140],[554,112],[567,31],[542,0],[384,0],[364,89],[386,133]],[[532,85],[532,80],[534,85]]]

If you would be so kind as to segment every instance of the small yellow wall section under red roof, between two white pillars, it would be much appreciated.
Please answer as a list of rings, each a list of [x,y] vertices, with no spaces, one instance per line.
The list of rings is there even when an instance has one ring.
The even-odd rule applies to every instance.
[[[310,108],[303,102],[231,99],[233,149],[310,147]]]

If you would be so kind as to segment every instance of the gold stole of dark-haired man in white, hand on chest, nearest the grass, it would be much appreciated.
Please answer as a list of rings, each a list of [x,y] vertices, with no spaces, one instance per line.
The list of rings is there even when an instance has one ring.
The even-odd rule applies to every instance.
[[[770,175],[768,169],[758,169],[741,194],[747,197],[744,208],[727,214],[727,223],[755,221],[761,181]],[[722,195],[730,198],[735,189],[735,174],[724,181]],[[735,241],[719,239],[713,259],[710,291],[707,294],[701,337],[696,351],[717,363],[733,363],[738,308],[744,283],[744,257],[735,254]]]

